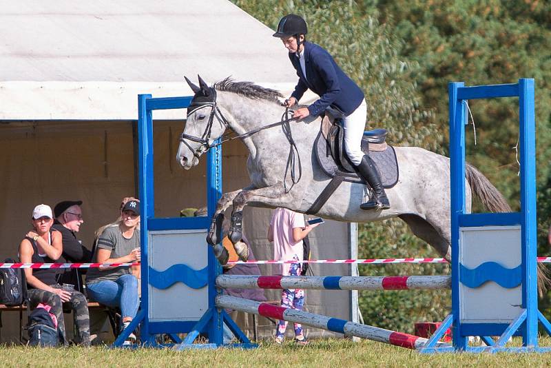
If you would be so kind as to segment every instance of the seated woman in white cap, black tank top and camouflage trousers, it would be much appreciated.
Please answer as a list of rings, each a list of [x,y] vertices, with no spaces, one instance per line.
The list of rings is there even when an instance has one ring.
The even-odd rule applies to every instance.
[[[34,207],[31,223],[33,229],[19,244],[19,259],[22,263],[54,263],[63,252],[63,243],[61,233],[51,229],[54,221],[50,206]],[[86,298],[76,290],[63,290],[61,285],[56,283],[56,271],[51,268],[25,268],[29,307],[34,309],[40,303],[50,305],[50,311],[55,314],[58,327],[65,337],[62,303],[68,303],[74,311],[74,324],[79,335],[77,342],[88,346],[90,345],[90,316]]]

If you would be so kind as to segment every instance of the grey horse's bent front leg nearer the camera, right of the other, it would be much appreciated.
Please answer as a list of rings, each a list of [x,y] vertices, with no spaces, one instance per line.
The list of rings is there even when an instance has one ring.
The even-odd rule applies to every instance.
[[[285,207],[292,203],[293,198],[300,198],[295,192],[296,191],[285,193],[283,183],[278,183],[271,187],[244,190],[239,193],[236,198],[233,199],[233,211],[231,212],[231,225],[228,234],[229,240],[233,243],[234,247],[236,243],[241,241],[243,236],[243,207],[245,207],[247,203],[260,202],[269,207]],[[236,249],[236,252],[238,253],[238,249]]]

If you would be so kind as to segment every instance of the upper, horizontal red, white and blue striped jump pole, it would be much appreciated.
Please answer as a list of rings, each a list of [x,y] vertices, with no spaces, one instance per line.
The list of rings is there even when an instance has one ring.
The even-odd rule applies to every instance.
[[[239,289],[437,290],[451,276],[246,276],[220,275],[216,286]]]

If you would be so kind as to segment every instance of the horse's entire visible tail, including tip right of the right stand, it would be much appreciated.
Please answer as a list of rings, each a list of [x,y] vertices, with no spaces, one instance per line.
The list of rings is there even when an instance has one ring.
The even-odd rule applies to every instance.
[[[465,165],[465,168],[465,175],[470,185],[470,190],[479,198],[484,207],[490,210],[490,212],[512,212],[503,194],[490,183],[484,174],[468,163]],[[549,270],[541,263],[538,263],[538,294],[540,296],[545,295],[550,285],[551,278]]]

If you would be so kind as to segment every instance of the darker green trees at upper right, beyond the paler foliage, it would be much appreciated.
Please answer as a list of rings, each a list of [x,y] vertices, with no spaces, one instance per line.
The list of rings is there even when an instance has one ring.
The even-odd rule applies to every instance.
[[[536,80],[539,182],[547,181],[551,159],[551,2],[550,1],[380,1],[380,19],[395,28],[400,55],[417,61],[415,81],[426,105],[436,108],[447,130],[447,84],[516,83]],[[477,143],[468,136],[468,161],[519,208],[516,99],[471,101]]]

